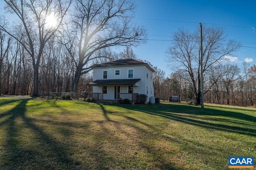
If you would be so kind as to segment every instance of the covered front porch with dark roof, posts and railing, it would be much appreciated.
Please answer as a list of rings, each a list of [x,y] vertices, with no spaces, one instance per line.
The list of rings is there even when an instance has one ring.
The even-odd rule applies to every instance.
[[[89,82],[89,97],[102,102],[118,102],[129,99],[130,103],[138,103],[138,83],[140,79],[95,80]],[[93,86],[93,91],[91,91]]]

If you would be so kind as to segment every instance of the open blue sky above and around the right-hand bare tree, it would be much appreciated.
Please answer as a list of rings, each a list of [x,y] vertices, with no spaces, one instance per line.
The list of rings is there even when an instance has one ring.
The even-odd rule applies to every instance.
[[[242,45],[246,46],[234,53],[230,62],[241,64],[251,61],[250,64],[256,64],[256,1],[137,0],[137,3],[135,21],[147,27],[148,39],[170,40],[170,35],[178,28],[184,27],[194,32],[200,22],[203,26],[219,24],[214,26],[224,27],[228,39],[242,41]],[[170,43],[149,40],[132,49],[140,59],[150,61],[168,76],[171,70],[164,61],[164,51]]]

